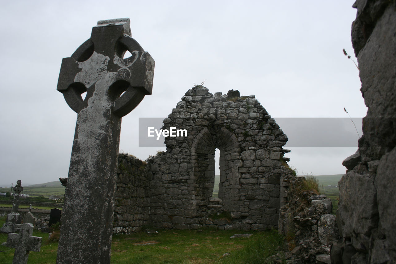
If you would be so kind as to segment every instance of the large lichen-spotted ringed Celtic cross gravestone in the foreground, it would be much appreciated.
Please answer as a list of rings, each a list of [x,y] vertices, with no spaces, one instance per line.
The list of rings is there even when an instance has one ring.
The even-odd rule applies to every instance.
[[[129,23],[98,21],[91,38],[62,61],[57,90],[78,115],[59,264],[110,263],[121,118],[151,94],[154,74],[154,60],[131,38]]]

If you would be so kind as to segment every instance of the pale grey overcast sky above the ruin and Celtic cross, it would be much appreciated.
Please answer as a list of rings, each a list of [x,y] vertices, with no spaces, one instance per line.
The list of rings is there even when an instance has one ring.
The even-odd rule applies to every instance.
[[[122,118],[120,152],[139,159],[165,150],[138,146],[139,117],[166,117],[203,81],[213,94],[255,95],[275,120],[367,112],[358,69],[342,52],[357,61],[353,0],[0,3],[2,185],[67,177],[77,114],[56,90],[59,69],[98,20],[129,17],[132,37],[156,61],[152,95]],[[345,173],[341,162],[357,146],[285,148],[298,174],[323,175]]]

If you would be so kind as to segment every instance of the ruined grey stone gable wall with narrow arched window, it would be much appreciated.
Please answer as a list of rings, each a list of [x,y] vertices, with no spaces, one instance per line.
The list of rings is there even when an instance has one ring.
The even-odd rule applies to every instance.
[[[188,90],[164,127],[187,137],[165,138],[166,152],[144,162],[120,154],[116,232],[157,228],[232,230],[277,228],[285,195],[281,166],[287,136],[255,96]],[[212,198],[215,149],[219,198]],[[127,169],[128,168],[128,169]],[[132,172],[130,172],[132,170]],[[281,198],[282,197],[282,198]]]

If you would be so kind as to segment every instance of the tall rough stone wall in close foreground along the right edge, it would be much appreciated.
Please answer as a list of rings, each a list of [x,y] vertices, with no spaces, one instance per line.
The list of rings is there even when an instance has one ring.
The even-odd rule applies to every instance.
[[[396,2],[358,0],[354,7],[352,44],[368,111],[339,182],[343,263],[396,263]]]

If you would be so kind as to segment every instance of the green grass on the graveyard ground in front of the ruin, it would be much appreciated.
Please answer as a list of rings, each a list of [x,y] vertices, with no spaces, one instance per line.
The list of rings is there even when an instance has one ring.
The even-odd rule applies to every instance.
[[[0,225],[4,219],[0,221]],[[251,232],[249,238],[230,239],[240,231],[230,230],[158,230],[158,234],[145,232],[131,235],[114,235],[111,263],[116,264],[204,264],[204,263],[263,263],[283,246],[283,237],[276,231]],[[55,263],[57,242],[49,241],[48,233],[33,232],[42,237],[40,252],[29,254],[28,263]],[[14,249],[2,246],[7,234],[0,234],[0,263],[11,263]],[[153,245],[144,245],[153,243]],[[223,256],[230,253],[229,256]]]

